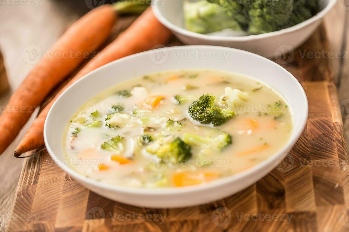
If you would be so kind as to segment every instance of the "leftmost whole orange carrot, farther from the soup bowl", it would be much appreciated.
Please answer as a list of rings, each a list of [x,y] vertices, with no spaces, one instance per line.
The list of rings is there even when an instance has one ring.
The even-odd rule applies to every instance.
[[[102,45],[115,19],[115,10],[111,5],[91,10],[72,24],[53,45],[51,55],[45,54],[29,72],[0,117],[0,154],[20,132],[33,109],[81,64],[84,60],[82,54],[96,51]]]

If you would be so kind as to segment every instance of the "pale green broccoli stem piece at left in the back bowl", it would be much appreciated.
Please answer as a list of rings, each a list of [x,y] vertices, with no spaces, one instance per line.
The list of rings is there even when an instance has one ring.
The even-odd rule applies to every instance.
[[[207,34],[231,28],[242,31],[238,22],[220,9],[220,6],[201,0],[184,1],[185,25],[189,31]]]

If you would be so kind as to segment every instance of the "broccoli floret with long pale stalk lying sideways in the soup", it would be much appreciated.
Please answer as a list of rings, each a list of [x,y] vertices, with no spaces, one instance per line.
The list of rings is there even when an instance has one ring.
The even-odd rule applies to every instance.
[[[225,132],[215,137],[201,137],[199,135],[184,133],[183,141],[192,146],[209,147],[213,150],[222,149],[232,143],[231,136]]]

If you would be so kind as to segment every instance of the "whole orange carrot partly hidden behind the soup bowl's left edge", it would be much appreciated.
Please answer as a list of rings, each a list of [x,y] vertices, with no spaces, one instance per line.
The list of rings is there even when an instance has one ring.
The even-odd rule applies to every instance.
[[[170,30],[159,23],[150,8],[144,11],[124,33],[101,51],[103,55],[99,60],[95,58],[91,59],[91,61],[89,61],[86,66],[59,91],[34,120],[14,151],[15,157],[19,157],[22,153],[36,149],[44,144],[43,131],[47,113],[54,101],[76,80],[116,59],[149,50],[156,45],[164,44],[169,40],[170,36]]]

